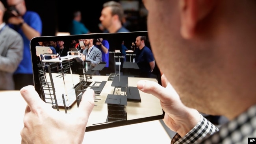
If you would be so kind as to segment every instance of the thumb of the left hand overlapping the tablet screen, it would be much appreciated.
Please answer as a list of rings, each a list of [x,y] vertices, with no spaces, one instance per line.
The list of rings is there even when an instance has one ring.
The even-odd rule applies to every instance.
[[[79,104],[78,110],[89,117],[91,111],[94,107],[94,91],[93,89],[88,89],[83,93],[82,100]]]

